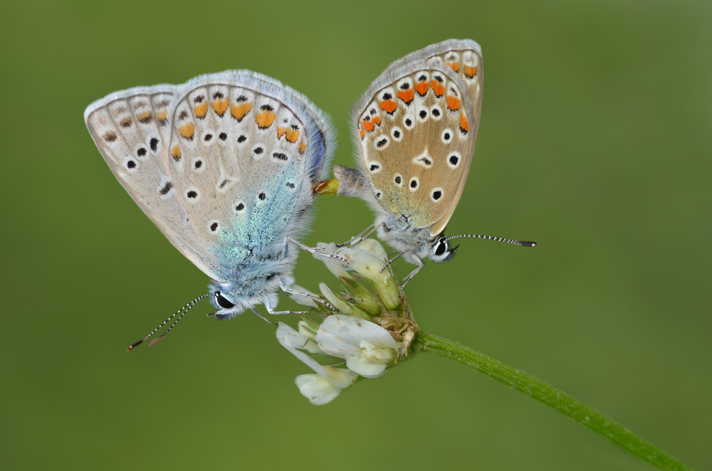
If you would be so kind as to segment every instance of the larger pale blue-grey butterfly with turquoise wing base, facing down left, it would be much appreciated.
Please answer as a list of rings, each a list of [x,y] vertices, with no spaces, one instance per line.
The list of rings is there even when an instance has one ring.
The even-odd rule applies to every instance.
[[[204,297],[217,319],[247,309],[260,315],[253,307],[261,304],[282,314],[279,290],[304,295],[290,289],[298,255],[290,241],[308,226],[312,186],[325,178],[335,147],[330,118],[305,95],[228,70],[114,92],[84,119],[120,184],[211,278],[209,292],[172,317]]]

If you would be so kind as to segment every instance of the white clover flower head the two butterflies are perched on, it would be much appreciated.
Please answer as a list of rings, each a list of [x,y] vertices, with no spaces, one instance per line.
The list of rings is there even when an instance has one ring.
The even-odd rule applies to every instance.
[[[304,316],[298,330],[280,322],[277,339],[314,371],[297,376],[295,384],[310,403],[319,405],[333,401],[359,377],[378,378],[389,366],[407,359],[418,327],[407,301],[399,296],[393,272],[386,266],[387,254],[377,240],[362,240],[347,248],[320,243],[316,250],[334,255],[315,256],[339,278],[345,292],[320,283],[320,298],[293,286],[323,302],[291,295],[313,307],[315,315]],[[322,365],[310,356],[317,354],[333,356],[335,363]]]

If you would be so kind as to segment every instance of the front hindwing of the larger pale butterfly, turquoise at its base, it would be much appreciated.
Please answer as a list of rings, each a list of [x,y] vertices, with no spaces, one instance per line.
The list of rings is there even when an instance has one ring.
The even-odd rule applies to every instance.
[[[305,123],[275,97],[243,86],[199,86],[177,104],[173,128],[177,197],[221,258],[244,259],[251,248],[274,243],[295,204],[310,203],[311,196],[297,197],[311,190]]]

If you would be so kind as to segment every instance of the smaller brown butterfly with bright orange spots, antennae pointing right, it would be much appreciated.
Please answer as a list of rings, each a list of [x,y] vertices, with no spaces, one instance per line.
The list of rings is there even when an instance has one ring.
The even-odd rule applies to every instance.
[[[533,242],[486,235],[444,234],[465,188],[482,105],[482,53],[471,40],[443,41],[396,60],[358,100],[351,118],[357,169],[334,166],[337,194],[357,196],[373,208],[375,223],[350,240],[377,231],[418,265],[451,260],[449,240],[475,237],[517,245]],[[386,266],[387,266],[386,265]],[[385,268],[385,267],[384,267]]]

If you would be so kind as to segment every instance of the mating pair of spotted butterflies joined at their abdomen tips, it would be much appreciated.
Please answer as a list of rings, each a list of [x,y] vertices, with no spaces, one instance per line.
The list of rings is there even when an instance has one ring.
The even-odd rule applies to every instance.
[[[449,40],[389,65],[355,107],[359,168],[334,167],[337,194],[370,203],[370,230],[418,265],[404,283],[422,259],[455,254],[444,229],[472,161],[482,84],[480,46]],[[329,117],[305,95],[234,70],[115,92],[84,117],[122,186],[212,280],[174,316],[204,297],[218,319],[261,304],[281,314],[279,290],[303,294],[290,288],[297,239],[335,147]]]

